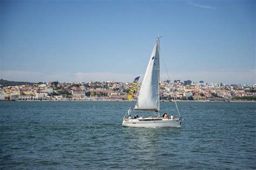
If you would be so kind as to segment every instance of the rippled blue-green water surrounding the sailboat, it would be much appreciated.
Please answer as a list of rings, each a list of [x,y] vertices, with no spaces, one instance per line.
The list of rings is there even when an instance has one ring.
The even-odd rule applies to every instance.
[[[134,103],[0,102],[0,168],[256,168],[256,103],[178,105],[182,128],[123,128]]]

